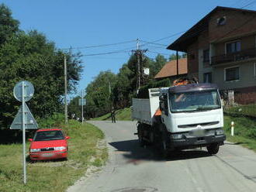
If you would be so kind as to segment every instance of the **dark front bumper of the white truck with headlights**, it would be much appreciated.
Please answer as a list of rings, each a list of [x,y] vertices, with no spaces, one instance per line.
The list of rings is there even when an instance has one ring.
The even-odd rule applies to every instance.
[[[209,146],[212,143],[224,144],[226,135],[206,135],[202,137],[184,137],[182,139],[170,139],[171,149],[192,149],[200,146]]]

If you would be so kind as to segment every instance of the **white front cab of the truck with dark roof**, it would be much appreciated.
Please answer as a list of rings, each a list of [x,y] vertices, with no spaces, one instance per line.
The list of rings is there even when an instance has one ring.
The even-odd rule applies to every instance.
[[[187,84],[161,89],[161,124],[170,149],[207,146],[217,153],[226,136],[223,108],[215,84]]]

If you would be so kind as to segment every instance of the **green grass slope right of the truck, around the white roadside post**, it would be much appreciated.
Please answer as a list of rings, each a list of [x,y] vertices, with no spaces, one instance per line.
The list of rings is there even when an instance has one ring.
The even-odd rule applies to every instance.
[[[234,122],[234,136],[230,135],[231,122]],[[228,141],[237,142],[256,152],[256,120],[246,117],[225,115],[224,130]]]

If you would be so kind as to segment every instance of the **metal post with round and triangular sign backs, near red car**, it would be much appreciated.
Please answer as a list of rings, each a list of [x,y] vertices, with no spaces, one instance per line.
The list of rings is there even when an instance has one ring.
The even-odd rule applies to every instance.
[[[34,87],[29,81],[20,81],[13,89],[14,97],[22,102],[16,118],[14,118],[10,129],[22,129],[23,142],[23,182],[26,184],[26,129],[38,129],[35,118],[29,111],[26,101],[34,94]]]

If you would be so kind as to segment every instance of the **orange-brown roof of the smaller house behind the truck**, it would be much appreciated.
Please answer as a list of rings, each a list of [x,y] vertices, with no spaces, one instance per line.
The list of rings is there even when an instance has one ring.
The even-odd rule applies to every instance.
[[[188,73],[188,62],[187,58],[178,60],[178,74]],[[164,67],[154,77],[155,79],[171,77],[177,75],[177,60],[171,60],[165,63]]]

